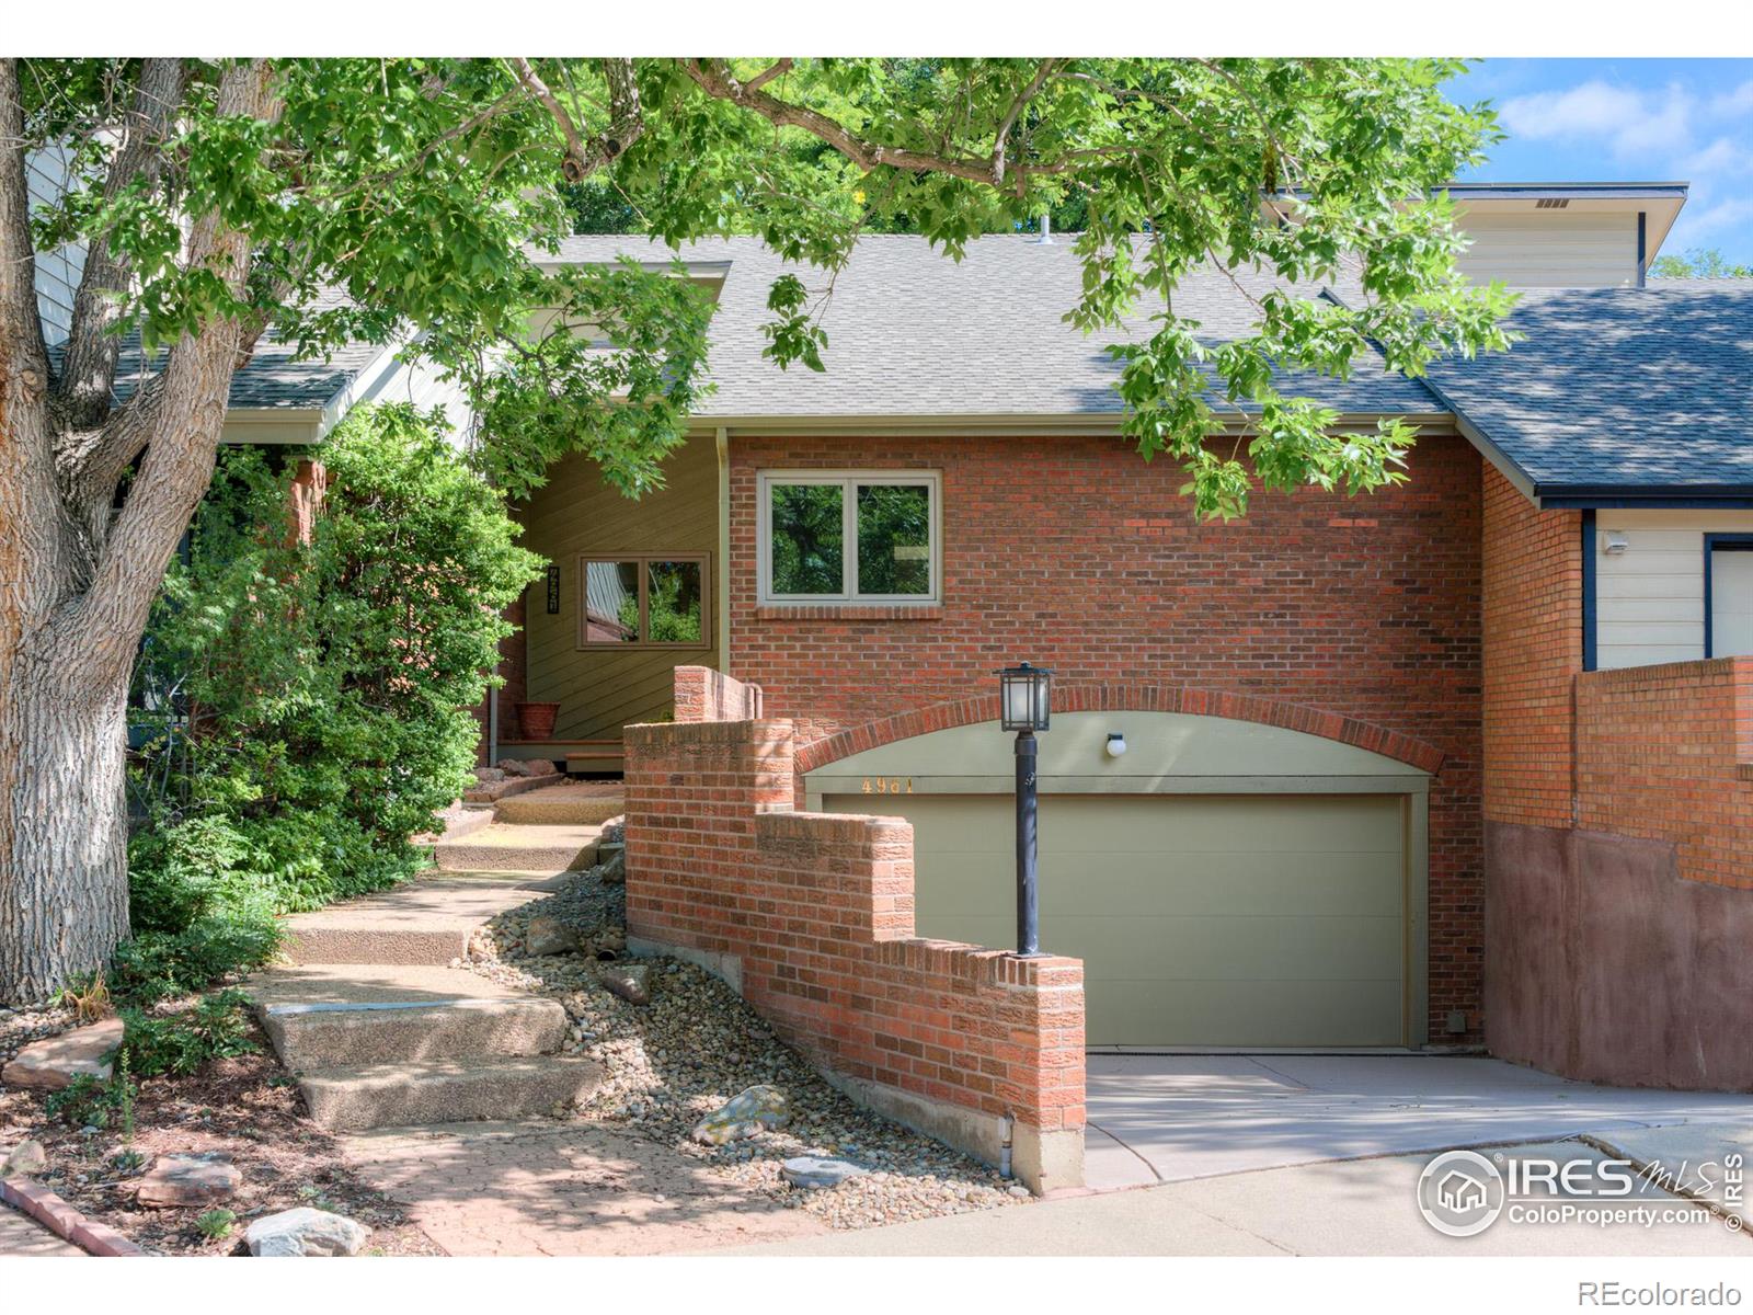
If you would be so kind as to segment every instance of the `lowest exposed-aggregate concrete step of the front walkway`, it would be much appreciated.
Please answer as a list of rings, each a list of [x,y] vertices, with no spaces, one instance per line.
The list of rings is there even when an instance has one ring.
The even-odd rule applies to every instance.
[[[522,1119],[573,1105],[603,1080],[577,1056],[463,1063],[368,1064],[305,1073],[298,1089],[319,1127],[363,1131],[403,1124]]]

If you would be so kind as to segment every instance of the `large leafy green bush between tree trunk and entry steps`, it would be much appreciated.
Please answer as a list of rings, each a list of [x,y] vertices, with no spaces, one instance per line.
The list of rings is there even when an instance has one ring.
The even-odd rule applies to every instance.
[[[330,486],[309,542],[291,461],[221,456],[137,670],[119,999],[254,968],[277,915],[403,880],[472,782],[501,612],[542,563],[440,419],[352,412],[310,452]]]

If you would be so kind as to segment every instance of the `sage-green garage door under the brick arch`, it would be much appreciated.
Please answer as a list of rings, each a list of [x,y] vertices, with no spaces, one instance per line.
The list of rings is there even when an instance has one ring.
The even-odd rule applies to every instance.
[[[829,796],[913,822],[920,936],[1015,945],[1015,801]],[[1406,1045],[1401,796],[1041,798],[1041,947],[1089,1045]]]

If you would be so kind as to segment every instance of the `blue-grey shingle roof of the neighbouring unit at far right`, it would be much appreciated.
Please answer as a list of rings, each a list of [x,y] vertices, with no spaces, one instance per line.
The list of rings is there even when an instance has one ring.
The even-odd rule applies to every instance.
[[[1753,486],[1753,281],[1532,289],[1509,323],[1430,382],[1536,493]]]

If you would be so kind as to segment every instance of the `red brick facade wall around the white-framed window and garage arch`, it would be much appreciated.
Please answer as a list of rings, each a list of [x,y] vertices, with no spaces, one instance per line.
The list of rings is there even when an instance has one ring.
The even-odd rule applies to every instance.
[[[938,470],[943,603],[757,607],[766,468]],[[1194,686],[1355,717],[1443,750],[1430,793],[1430,1017],[1478,1038],[1480,458],[1425,437],[1409,484],[1369,498],[1259,494],[1197,524],[1173,461],[1111,438],[735,438],[731,650],[801,743],[989,694],[1011,661],[1066,684]]]

